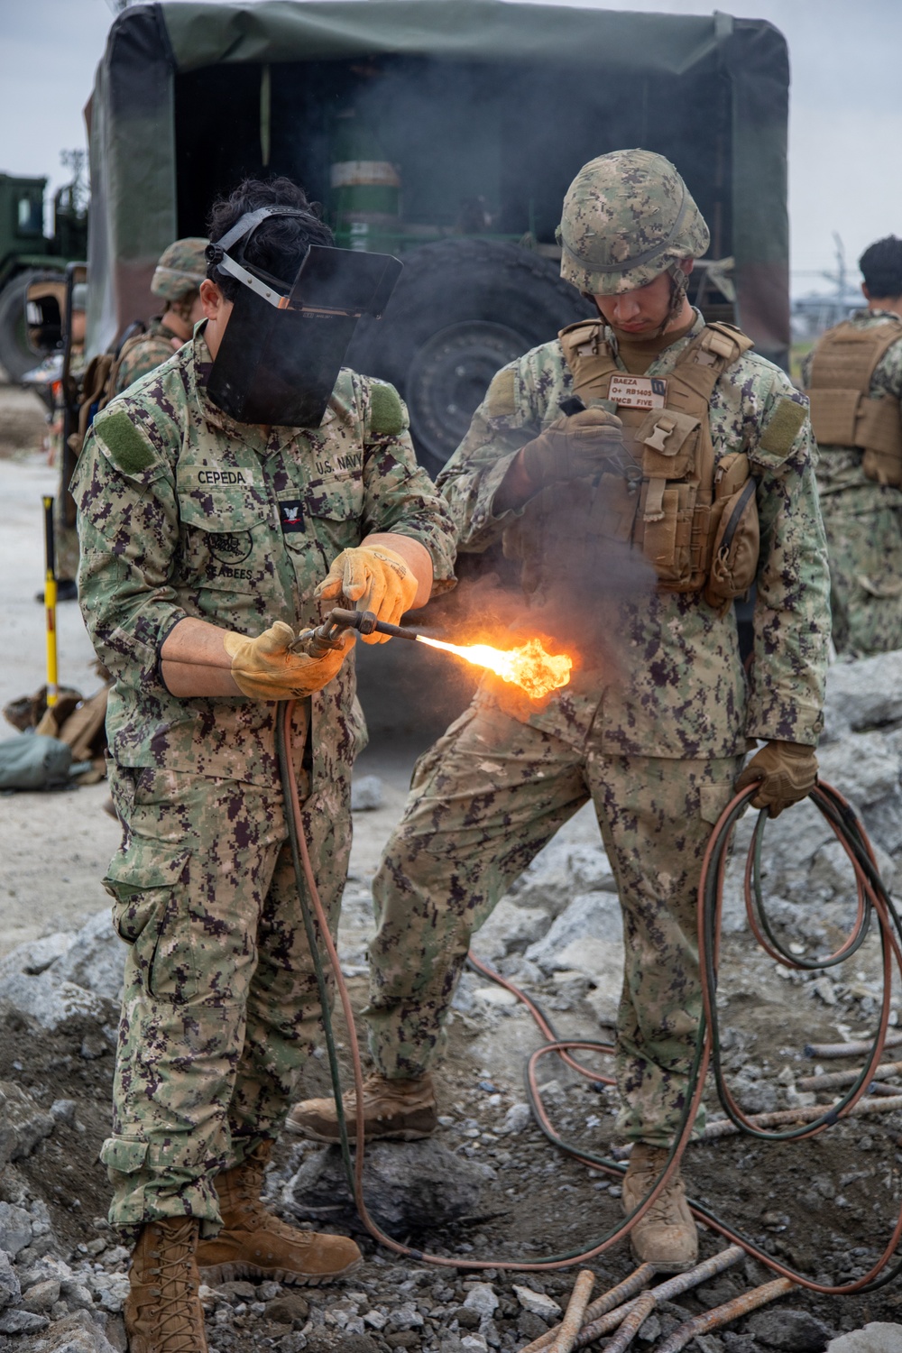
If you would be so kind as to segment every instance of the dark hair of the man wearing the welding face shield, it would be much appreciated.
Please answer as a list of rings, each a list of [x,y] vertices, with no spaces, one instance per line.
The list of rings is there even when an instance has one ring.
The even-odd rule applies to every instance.
[[[321,219],[319,203],[308,202],[304,189],[284,177],[268,183],[245,179],[227,198],[214,202],[207,218],[210,238],[214,244],[222,239],[246,211],[257,211],[258,207],[291,207],[303,215],[270,216],[257,226],[243,249],[245,264],[253,271],[291,284],[308,245],[334,244],[331,230]],[[242,242],[235,248],[241,250]],[[226,300],[234,300],[241,283],[218,268],[216,262],[208,262],[207,276],[216,283]]]

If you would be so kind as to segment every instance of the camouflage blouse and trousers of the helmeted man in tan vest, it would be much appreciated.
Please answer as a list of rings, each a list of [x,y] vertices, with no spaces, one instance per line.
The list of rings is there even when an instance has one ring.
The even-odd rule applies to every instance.
[[[696,314],[648,373],[667,376],[702,327]],[[572,391],[560,341],[495,377],[438,480],[460,548],[484,551],[514,520],[492,514],[495,492],[518,448],[560,415],[559,400]],[[621,1127],[633,1139],[669,1143],[701,1011],[695,902],[711,825],[733,794],[748,739],[814,746],[821,728],[824,530],[810,423],[787,400],[806,407],[782,371],[749,352],[719,376],[710,403],[717,460],[745,451],[757,480],[761,555],[748,686],[733,612],[718,614],[698,593],[653,590],[619,603],[611,633],[622,640],[621,679],[590,663],[529,713],[491,678],[418,763],[375,879],[366,1017],[384,1076],[427,1068],[471,932],[591,797],[625,923]],[[791,444],[778,433],[787,423]],[[603,595],[604,578],[596,590]]]

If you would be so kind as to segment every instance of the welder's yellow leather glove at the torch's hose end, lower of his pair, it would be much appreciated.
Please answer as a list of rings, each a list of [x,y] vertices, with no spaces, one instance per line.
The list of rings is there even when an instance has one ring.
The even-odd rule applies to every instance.
[[[295,632],[283,620],[257,639],[226,630],[223,644],[231,658],[231,678],[238,690],[252,700],[303,700],[312,695],[338,674],[354,637],[352,633],[342,636],[342,647],[325,658],[289,652],[288,645],[293,641]]]

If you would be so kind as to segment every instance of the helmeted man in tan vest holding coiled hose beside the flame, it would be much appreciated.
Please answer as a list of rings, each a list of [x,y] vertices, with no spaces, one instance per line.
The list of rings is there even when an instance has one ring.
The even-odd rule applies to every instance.
[[[760,779],[755,804],[772,815],[814,783],[826,557],[807,403],[738,330],[706,326],[688,304],[686,279],[709,233],[675,168],[645,150],[591,161],[567,195],[561,242],[561,275],[595,296],[600,322],[565,329],[495,376],[440,486],[464,549],[506,534],[540,605],[590,598],[581,622],[596,614],[598,633],[545,709],[485,681],[417,766],[373,885],[366,1020],[377,1072],[365,1118],[372,1137],[433,1130],[429,1066],[471,932],[591,797],[623,908],[617,1078],[619,1127],[636,1143],[623,1185],[632,1211],[686,1104],[711,825],[737,783]],[[561,414],[575,394],[590,407]],[[650,586],[627,589],[611,622],[607,564],[622,576],[630,557]],[[730,598],[753,578],[746,690]],[[548,621],[553,609],[538,613]],[[737,781],[748,739],[765,747]],[[337,1138],[331,1100],[296,1105],[288,1124]],[[633,1247],[663,1268],[695,1262],[679,1176],[634,1227]]]

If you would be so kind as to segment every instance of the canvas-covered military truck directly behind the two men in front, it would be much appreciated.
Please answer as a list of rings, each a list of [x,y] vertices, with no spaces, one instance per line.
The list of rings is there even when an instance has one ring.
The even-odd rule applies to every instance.
[[[406,396],[437,471],[506,361],[590,314],[554,229],[584,161],[668,156],[711,227],[691,296],[786,363],[788,60],[761,20],[499,0],[128,8],[89,106],[89,352],[153,313],[177,235],[243,176],[288,175],[338,242],[404,271],[350,365]]]

